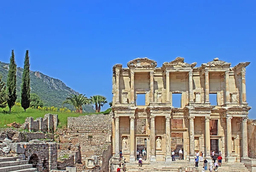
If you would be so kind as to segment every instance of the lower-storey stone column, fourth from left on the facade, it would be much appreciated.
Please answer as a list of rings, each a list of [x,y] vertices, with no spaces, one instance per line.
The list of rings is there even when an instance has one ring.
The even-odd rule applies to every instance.
[[[166,116],[166,161],[172,161],[172,147],[171,147],[171,116]]]

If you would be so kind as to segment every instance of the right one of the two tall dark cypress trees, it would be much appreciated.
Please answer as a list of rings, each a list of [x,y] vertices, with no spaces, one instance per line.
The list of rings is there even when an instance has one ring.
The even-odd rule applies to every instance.
[[[22,83],[21,83],[21,106],[24,111],[29,108],[30,104],[30,77],[29,77],[29,51],[26,51],[24,60],[24,70],[22,73]]]

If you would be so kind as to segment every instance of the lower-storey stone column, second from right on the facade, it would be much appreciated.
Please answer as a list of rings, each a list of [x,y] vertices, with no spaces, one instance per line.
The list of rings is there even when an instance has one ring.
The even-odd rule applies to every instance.
[[[226,117],[227,119],[227,162],[233,163],[234,158],[232,156],[232,128],[231,128],[231,119],[232,116]]]

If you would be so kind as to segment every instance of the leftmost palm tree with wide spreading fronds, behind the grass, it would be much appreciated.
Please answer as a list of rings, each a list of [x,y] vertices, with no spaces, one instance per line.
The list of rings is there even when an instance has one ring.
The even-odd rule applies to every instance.
[[[89,104],[90,100],[87,99],[85,94],[79,94],[79,95],[70,95],[66,98],[66,100],[62,103],[63,104],[71,104],[76,108],[76,113],[83,113],[83,105]]]

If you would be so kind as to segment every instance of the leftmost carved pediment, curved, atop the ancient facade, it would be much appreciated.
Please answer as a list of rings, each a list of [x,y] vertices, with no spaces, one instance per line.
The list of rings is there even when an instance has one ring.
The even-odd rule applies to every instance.
[[[157,66],[157,62],[151,59],[145,58],[137,58],[131,60],[127,63],[128,68],[155,68]]]

